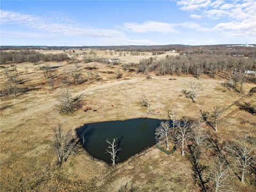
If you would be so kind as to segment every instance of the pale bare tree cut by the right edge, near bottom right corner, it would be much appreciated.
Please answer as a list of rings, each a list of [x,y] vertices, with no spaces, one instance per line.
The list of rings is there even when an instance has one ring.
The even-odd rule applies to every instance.
[[[248,140],[249,138],[242,138],[238,143],[229,142],[227,147],[228,153],[235,158],[236,164],[239,167],[242,183],[245,183],[245,176],[256,157],[255,141],[249,143],[247,142]]]

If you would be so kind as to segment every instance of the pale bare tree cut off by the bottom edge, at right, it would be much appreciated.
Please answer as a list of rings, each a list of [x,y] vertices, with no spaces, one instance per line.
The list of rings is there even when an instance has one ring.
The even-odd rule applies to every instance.
[[[227,163],[226,159],[218,156],[211,169],[211,178],[215,192],[233,191],[229,185],[231,182],[230,171],[230,165]]]

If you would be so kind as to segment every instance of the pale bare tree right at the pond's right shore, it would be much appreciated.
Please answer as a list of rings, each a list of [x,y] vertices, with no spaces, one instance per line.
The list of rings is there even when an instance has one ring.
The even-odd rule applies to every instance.
[[[160,126],[156,128],[155,138],[157,142],[164,142],[167,150],[169,150],[170,135],[171,129],[169,122],[161,122]]]

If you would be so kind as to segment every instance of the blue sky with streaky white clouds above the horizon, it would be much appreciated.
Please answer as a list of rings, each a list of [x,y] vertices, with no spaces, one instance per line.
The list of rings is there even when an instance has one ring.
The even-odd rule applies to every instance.
[[[2,0],[0,5],[0,45],[256,44],[255,0]]]

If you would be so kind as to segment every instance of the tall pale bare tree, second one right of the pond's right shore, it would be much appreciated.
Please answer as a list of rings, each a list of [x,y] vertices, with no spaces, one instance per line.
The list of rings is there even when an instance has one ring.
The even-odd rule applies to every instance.
[[[184,149],[186,141],[191,137],[191,123],[187,119],[183,119],[179,122],[177,129],[174,131],[175,139],[177,139],[178,145],[181,146],[181,155],[184,156]]]

